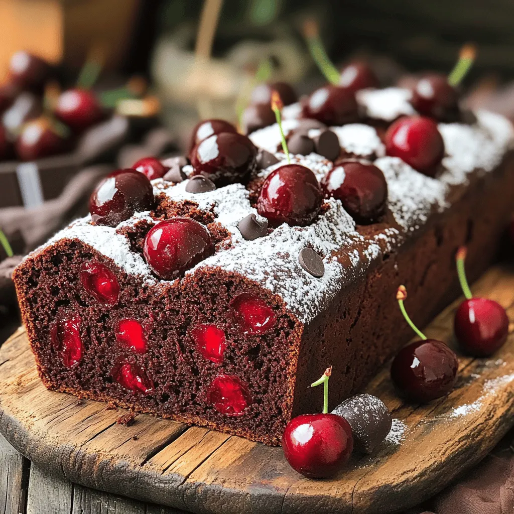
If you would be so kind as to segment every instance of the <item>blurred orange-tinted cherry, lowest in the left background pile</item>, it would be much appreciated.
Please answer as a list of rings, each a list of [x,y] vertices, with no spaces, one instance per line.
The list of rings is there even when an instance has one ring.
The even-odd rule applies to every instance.
[[[46,118],[29,121],[15,143],[17,156],[24,161],[40,159],[62,152],[66,139],[54,130]]]

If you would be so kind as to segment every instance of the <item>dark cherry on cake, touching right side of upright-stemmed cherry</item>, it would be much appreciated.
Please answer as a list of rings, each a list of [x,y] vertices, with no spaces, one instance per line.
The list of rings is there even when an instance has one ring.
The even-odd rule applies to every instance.
[[[341,200],[357,223],[376,222],[387,204],[387,181],[371,162],[343,160],[322,179],[328,196]]]

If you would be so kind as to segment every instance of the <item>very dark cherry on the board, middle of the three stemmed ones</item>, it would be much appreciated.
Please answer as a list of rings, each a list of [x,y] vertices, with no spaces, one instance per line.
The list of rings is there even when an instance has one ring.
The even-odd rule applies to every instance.
[[[391,365],[391,378],[409,400],[427,402],[447,395],[457,379],[458,360],[442,341],[414,341]]]

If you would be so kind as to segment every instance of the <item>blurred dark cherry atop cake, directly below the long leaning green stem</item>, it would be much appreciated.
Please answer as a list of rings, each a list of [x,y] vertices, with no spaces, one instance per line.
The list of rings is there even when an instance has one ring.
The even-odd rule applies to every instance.
[[[355,93],[341,86],[327,84],[316,89],[302,108],[303,118],[313,118],[325,125],[343,125],[358,118]]]

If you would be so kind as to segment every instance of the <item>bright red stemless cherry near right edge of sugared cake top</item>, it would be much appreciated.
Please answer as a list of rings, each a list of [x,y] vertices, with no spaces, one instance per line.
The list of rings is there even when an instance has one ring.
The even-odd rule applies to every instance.
[[[415,170],[433,177],[445,154],[437,123],[423,116],[396,120],[384,137],[386,153],[399,157]]]

